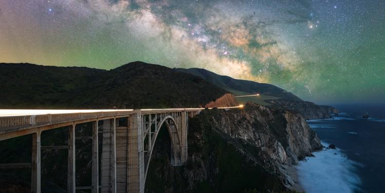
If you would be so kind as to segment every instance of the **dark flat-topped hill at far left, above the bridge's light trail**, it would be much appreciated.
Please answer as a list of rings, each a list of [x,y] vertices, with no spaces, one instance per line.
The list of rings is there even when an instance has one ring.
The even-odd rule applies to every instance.
[[[63,108],[62,99],[103,72],[85,67],[0,64],[0,108]]]

